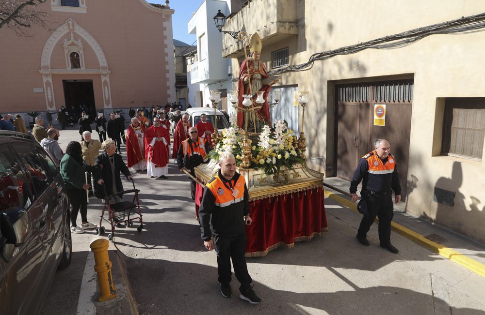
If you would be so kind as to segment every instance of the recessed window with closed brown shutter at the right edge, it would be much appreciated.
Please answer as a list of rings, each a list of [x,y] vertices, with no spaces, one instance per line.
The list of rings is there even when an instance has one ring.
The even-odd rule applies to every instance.
[[[448,98],[443,116],[441,154],[482,159],[485,98]]]

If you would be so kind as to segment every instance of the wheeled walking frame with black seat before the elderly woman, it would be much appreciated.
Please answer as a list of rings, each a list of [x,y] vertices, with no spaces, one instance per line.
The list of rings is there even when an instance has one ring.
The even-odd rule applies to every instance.
[[[101,218],[99,219],[99,226],[96,228],[97,235],[101,235],[105,232],[105,229],[104,229],[104,226],[102,226],[102,223],[104,219],[104,212],[106,210],[108,210],[108,219],[104,219],[104,220],[111,224],[111,233],[108,234],[109,240],[111,241],[114,240],[115,227],[119,227],[121,224],[124,224],[125,226],[130,227],[133,225],[133,220],[140,221],[140,225],[136,229],[138,230],[138,232],[142,231],[143,229],[142,211],[140,210],[140,199],[138,198],[138,193],[140,192],[140,190],[135,188],[135,182],[133,181],[133,179],[131,179],[131,183],[133,184],[133,189],[117,192],[111,196],[106,195],[106,188],[104,186],[104,183],[102,184],[103,190],[104,190],[104,207],[103,207],[103,211],[101,212]],[[131,194],[131,193],[134,193],[133,200],[131,202],[121,201],[121,202],[110,204],[111,197],[114,197],[114,196],[122,197],[123,195]]]

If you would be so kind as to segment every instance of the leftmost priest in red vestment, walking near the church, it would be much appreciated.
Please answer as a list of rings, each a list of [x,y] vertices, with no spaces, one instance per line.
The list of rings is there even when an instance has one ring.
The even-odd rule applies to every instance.
[[[141,125],[138,118],[133,117],[127,129],[126,156],[128,167],[134,171],[146,170],[145,133],[145,124]]]

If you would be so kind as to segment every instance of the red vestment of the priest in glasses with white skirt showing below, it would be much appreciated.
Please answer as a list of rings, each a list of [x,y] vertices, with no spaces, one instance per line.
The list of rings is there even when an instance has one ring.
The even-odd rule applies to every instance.
[[[163,143],[163,141],[155,141],[153,147],[150,146],[153,138],[156,137],[163,137],[165,140],[168,137],[170,140],[170,134],[164,127],[150,126],[145,134],[145,158],[147,163],[151,162],[155,164],[155,167],[163,167],[168,164],[167,146]]]

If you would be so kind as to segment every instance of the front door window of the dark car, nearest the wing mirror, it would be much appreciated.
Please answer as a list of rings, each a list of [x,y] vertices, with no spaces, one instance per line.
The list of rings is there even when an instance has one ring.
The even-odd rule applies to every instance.
[[[0,149],[0,211],[29,208],[31,192],[29,180],[12,151],[6,146]]]

